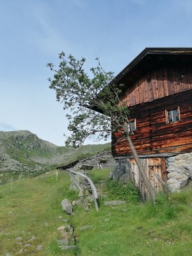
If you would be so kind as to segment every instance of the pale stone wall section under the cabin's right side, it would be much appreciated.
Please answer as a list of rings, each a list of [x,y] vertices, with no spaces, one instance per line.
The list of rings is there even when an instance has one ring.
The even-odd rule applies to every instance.
[[[192,153],[166,159],[167,185],[170,191],[179,191],[192,179]]]

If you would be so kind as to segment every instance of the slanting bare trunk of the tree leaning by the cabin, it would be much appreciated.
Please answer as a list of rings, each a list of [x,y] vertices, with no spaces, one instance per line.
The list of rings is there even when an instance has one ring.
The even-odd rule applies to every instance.
[[[152,184],[150,183],[150,180],[147,178],[147,175],[145,173],[145,170],[143,169],[143,166],[141,164],[140,158],[138,156],[138,152],[136,152],[136,149],[134,148],[134,145],[132,143],[131,137],[129,136],[129,128],[127,124],[124,124],[124,134],[127,142],[129,143],[129,147],[131,148],[132,155],[136,161],[136,164],[138,166],[139,172],[141,173],[141,177],[143,179],[143,182],[145,183],[145,186],[148,190],[148,193],[150,194],[152,198],[152,204],[156,204],[156,191],[152,187]]]

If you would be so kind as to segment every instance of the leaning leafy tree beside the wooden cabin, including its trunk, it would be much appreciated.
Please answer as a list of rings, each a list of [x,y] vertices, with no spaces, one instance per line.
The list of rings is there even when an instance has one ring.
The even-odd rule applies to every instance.
[[[96,59],[97,67],[90,68],[90,76],[84,70],[85,58],[76,60],[74,56],[59,54],[58,69],[52,63],[47,66],[54,72],[49,78],[50,88],[56,91],[56,99],[68,110],[68,136],[66,145],[78,147],[90,136],[96,140],[107,140],[111,132],[121,132],[122,138],[129,143],[132,155],[138,165],[143,182],[155,204],[156,193],[140,163],[138,154],[131,141],[129,109],[121,100],[123,84],[115,84],[113,72],[106,72]]]

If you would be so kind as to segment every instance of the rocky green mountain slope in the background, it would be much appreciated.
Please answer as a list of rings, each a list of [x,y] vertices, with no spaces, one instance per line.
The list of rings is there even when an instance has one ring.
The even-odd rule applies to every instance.
[[[110,144],[58,147],[29,131],[0,132],[0,172],[44,172],[110,150]]]

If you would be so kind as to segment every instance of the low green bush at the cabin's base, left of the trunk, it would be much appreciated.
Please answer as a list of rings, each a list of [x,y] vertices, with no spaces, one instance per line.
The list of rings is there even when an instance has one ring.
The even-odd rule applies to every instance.
[[[108,180],[106,182],[106,188],[113,199],[125,200],[132,203],[140,202],[140,192],[132,182],[120,184],[116,180]]]

